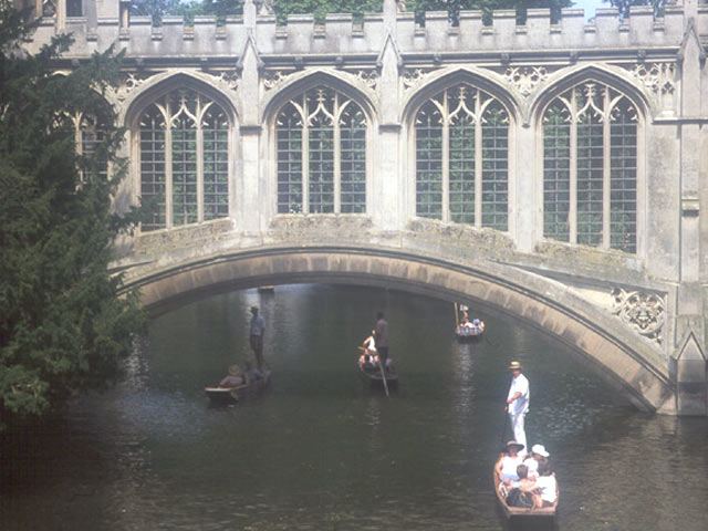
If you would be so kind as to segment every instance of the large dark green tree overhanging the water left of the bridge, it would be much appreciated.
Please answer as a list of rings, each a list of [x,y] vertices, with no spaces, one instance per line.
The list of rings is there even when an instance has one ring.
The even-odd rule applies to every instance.
[[[124,134],[102,93],[121,56],[52,75],[71,39],[25,54],[24,20],[0,1],[0,430],[110,383],[143,322],[136,295],[117,296],[121,278],[107,270],[134,218],[111,211]],[[83,155],[76,116],[97,132]]]

